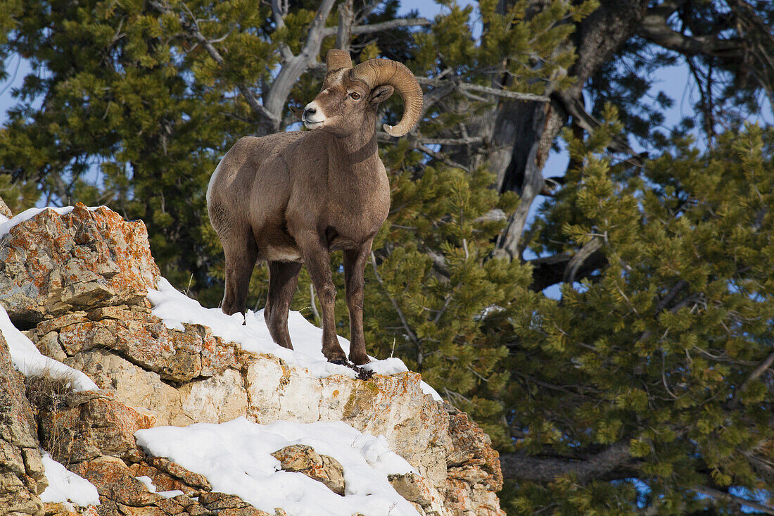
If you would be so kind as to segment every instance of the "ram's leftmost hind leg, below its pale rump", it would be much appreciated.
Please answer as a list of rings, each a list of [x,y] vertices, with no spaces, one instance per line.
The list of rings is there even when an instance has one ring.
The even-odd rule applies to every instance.
[[[258,248],[252,235],[245,234],[241,238],[232,237],[224,241],[223,252],[226,256],[226,288],[221,309],[228,315],[237,312],[244,314]]]

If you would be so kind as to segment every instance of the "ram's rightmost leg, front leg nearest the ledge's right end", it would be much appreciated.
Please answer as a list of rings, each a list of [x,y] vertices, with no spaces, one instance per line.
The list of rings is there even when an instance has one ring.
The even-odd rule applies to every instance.
[[[358,366],[370,362],[365,353],[363,335],[363,273],[365,262],[371,253],[372,240],[368,240],[360,249],[344,251],[344,284],[347,287],[347,307],[349,308],[350,346],[349,359]]]

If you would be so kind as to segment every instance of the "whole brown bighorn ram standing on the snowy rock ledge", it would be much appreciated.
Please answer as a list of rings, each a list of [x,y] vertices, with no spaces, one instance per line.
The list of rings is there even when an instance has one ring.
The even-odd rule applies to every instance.
[[[368,363],[363,337],[363,273],[374,236],[389,211],[389,181],[376,149],[376,110],[398,91],[403,116],[385,125],[403,136],[420,118],[422,90],[408,68],[372,59],[352,67],[349,53],[330,50],[317,97],[303,110],[310,132],[238,140],[207,187],[207,211],[223,243],[228,315],[245,312],[256,259],[269,262],[265,319],[272,339],[293,349],[290,300],[306,263],[322,305],[323,354],[345,363],[334,327],[336,291],[328,253],[344,251],[351,330],[349,359]]]

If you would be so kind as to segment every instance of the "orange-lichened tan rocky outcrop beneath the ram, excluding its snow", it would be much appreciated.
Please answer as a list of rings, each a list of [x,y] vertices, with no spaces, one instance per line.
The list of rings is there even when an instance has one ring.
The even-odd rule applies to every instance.
[[[261,424],[344,421],[384,435],[416,470],[390,480],[419,514],[504,514],[495,495],[502,487],[498,455],[488,437],[464,413],[423,394],[419,374],[317,378],[224,342],[205,326],[167,328],[146,298],[159,270],[142,222],[79,205],[67,215],[42,212],[0,244],[0,304],[29,329],[41,353],[83,371],[101,389],[40,408],[37,416],[46,449],[98,487],[99,514],[265,514],[211,493],[204,477],[145,456],[133,441],[139,428],[239,416]],[[283,468],[344,493],[341,465],[337,470],[330,457],[313,449],[278,453]],[[162,497],[137,477],[159,492],[181,494]]]

